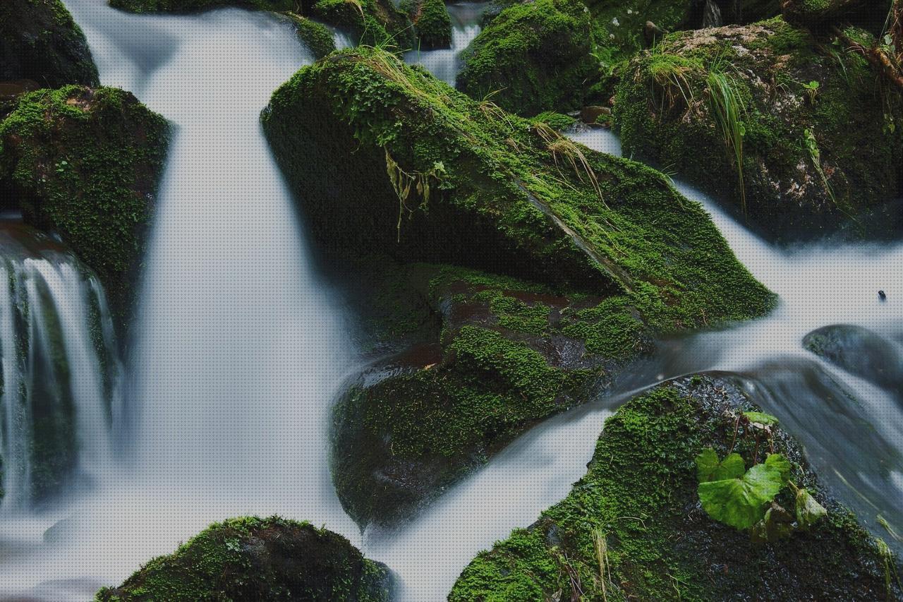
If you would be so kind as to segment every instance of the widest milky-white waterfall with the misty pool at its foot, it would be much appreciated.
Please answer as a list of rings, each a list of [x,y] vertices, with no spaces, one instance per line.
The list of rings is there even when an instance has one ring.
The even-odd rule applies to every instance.
[[[0,597],[83,598],[228,516],[279,513],[358,541],[328,462],[330,404],[357,353],[259,125],[310,53],[262,12],[66,4],[101,81],[135,91],[174,136],[129,357],[134,474],[0,522],[15,552]]]

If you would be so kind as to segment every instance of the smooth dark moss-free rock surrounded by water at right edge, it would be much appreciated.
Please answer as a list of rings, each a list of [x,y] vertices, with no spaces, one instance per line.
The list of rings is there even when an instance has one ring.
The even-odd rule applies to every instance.
[[[867,328],[824,326],[805,335],[806,349],[903,399],[903,358],[894,343]]]

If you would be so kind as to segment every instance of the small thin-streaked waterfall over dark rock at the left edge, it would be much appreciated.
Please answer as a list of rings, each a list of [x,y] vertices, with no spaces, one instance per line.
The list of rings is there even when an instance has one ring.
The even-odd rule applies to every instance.
[[[97,277],[46,235],[0,229],[0,455],[18,513],[111,469],[121,370]]]

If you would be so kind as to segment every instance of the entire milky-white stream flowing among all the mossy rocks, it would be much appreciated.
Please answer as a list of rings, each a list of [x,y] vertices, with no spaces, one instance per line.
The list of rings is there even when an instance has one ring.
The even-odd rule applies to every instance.
[[[65,1],[101,80],[134,91],[170,119],[173,143],[127,366],[129,451],[114,466],[92,464],[97,484],[67,505],[0,518],[0,598],[87,599],[209,522],[279,513],[325,525],[385,561],[399,599],[441,600],[479,550],[568,493],[612,409],[636,390],[703,370],[738,374],[864,521],[874,526],[881,513],[903,531],[903,476],[891,444],[903,435],[901,401],[801,343],[817,327],[852,324],[898,350],[903,288],[894,287],[903,282],[903,246],[776,249],[677,184],[703,202],[740,260],[778,293],[777,310],[663,342],[609,394],[519,437],[411,522],[361,534],[328,471],[330,401],[358,367],[358,353],[339,297],[312,265],[258,124],[272,90],[309,63],[309,53],[289,24],[268,14],[132,15],[106,0]],[[453,14],[456,6],[470,17],[454,17],[452,49],[408,55],[443,80],[454,79],[457,53],[479,32],[479,11],[452,5]],[[609,132],[574,136],[620,153]],[[62,283],[58,304],[83,303],[90,290],[98,295],[84,278],[66,285],[74,277],[66,279],[62,264],[47,263],[62,274],[54,280],[53,269],[29,260],[3,268],[40,272],[31,281],[49,287]],[[0,295],[0,344],[7,344],[13,306]],[[6,359],[3,370],[6,380]],[[79,428],[97,428],[82,424],[90,417]]]

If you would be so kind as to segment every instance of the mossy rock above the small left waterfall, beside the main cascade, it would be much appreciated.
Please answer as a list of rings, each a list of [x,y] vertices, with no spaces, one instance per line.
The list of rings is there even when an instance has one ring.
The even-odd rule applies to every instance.
[[[125,323],[168,147],[167,122],[120,89],[66,86],[20,99],[0,124],[0,189],[58,232]]]

